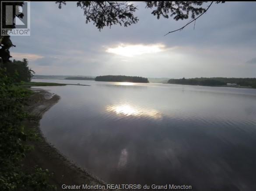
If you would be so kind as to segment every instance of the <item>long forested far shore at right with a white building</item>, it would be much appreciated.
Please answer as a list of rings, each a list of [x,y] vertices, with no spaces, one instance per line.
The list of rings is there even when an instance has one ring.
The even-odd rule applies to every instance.
[[[256,78],[180,78],[169,79],[169,84],[182,85],[210,85],[210,86],[244,86],[249,88],[256,88]]]

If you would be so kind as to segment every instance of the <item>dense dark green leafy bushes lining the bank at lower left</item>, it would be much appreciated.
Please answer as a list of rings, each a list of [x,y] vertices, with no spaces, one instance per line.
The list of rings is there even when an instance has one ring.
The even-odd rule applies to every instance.
[[[33,133],[26,133],[22,122],[30,118],[25,112],[26,98],[30,92],[14,85],[14,80],[0,68],[0,190],[53,190],[48,184],[47,171],[36,167],[28,174],[21,169],[21,161],[29,147],[27,140]]]

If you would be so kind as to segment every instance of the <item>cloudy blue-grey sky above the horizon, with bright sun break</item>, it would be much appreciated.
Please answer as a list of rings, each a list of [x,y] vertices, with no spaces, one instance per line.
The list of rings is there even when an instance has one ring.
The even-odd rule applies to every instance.
[[[158,20],[133,3],[137,24],[99,31],[75,2],[31,2],[31,36],[11,37],[11,55],[39,75],[256,77],[256,2],[214,3],[195,28],[166,36],[189,20]]]

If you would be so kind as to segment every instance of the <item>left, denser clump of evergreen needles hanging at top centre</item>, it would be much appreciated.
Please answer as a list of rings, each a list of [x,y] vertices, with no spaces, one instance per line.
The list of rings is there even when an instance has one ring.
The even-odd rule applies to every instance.
[[[56,1],[61,5],[66,5],[65,1]],[[138,22],[138,18],[133,13],[137,10],[133,4],[117,1],[78,1],[77,7],[81,7],[86,17],[85,22],[93,21],[93,24],[101,30],[105,26],[111,27],[113,24],[124,25],[125,27]]]

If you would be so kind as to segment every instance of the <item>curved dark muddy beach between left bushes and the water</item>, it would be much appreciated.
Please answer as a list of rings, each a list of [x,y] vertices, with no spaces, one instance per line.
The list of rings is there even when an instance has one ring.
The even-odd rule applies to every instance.
[[[25,171],[32,171],[35,166],[42,169],[48,169],[49,184],[56,185],[57,190],[62,191],[62,185],[105,185],[94,175],[88,173],[84,168],[74,164],[74,162],[63,156],[51,143],[48,143],[42,131],[40,130],[40,120],[43,114],[54,106],[60,96],[52,94],[44,89],[31,88],[34,93],[29,97],[27,111],[36,117],[36,120],[26,121],[25,128],[33,130],[39,137],[39,140],[29,141],[28,144],[34,147],[26,154],[24,159]]]

